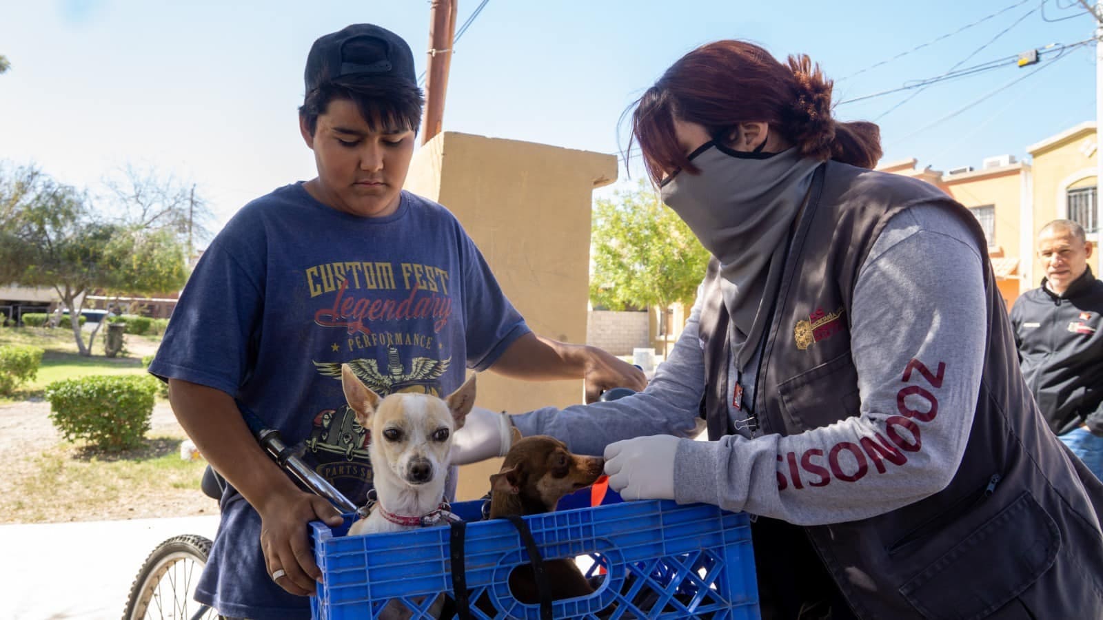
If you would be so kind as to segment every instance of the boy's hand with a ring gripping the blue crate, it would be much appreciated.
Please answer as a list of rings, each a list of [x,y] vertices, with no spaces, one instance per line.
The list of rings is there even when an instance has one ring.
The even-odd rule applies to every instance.
[[[341,513],[328,500],[299,490],[270,498],[258,512],[268,575],[292,595],[314,594],[322,573],[307,541],[307,523],[321,520],[335,527],[343,521]]]

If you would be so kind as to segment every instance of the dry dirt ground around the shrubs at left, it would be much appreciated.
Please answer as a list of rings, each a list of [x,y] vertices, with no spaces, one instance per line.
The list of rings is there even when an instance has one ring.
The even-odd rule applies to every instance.
[[[128,339],[126,346],[129,354],[135,357],[152,354],[157,349],[156,343],[141,339],[132,341]],[[4,480],[0,481],[0,489],[4,492],[19,493],[18,487],[7,488],[28,478],[32,468],[36,467],[38,455],[63,442],[61,434],[54,428],[49,416],[50,403],[41,399],[0,405],[0,456],[6,463]],[[168,402],[158,400],[153,406],[147,437],[186,438]],[[216,503],[200,491],[199,483],[196,479],[195,487],[191,489],[165,487],[163,490],[158,490],[152,498],[135,496],[104,503],[95,511],[60,516],[58,520],[104,521],[216,514]]]

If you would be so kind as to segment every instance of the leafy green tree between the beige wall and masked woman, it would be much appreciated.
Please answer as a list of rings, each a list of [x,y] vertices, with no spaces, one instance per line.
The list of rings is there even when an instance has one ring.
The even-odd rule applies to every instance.
[[[596,201],[590,244],[590,300],[613,310],[654,306],[661,321],[672,303],[693,301],[708,265],[708,250],[642,181]]]

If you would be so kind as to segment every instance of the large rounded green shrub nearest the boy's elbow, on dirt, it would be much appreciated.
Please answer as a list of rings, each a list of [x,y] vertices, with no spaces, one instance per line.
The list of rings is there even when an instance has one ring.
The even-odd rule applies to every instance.
[[[66,440],[87,439],[104,450],[141,445],[153,415],[157,380],[96,375],[46,386],[50,420]]]

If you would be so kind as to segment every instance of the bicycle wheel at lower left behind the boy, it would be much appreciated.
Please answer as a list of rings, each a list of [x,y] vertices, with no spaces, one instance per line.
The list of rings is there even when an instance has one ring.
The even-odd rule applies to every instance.
[[[210,554],[211,541],[193,534],[173,536],[158,545],[130,585],[122,620],[193,618],[203,607],[192,596]],[[218,614],[210,609],[203,618]]]

